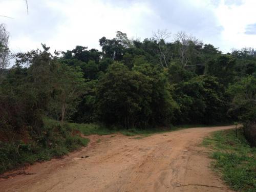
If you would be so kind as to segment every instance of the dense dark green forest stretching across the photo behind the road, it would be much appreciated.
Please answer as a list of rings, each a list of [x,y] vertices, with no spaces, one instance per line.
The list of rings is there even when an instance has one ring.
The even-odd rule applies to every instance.
[[[224,54],[185,32],[158,30],[141,41],[117,31],[113,39],[99,39],[101,51],[76,46],[53,52],[42,44],[14,55],[6,26],[0,31],[3,162],[10,159],[5,150],[34,153],[38,145],[55,150],[61,142],[70,150],[82,143],[65,122],[121,130],[237,121],[255,145],[253,49]],[[59,123],[46,123],[53,120]]]

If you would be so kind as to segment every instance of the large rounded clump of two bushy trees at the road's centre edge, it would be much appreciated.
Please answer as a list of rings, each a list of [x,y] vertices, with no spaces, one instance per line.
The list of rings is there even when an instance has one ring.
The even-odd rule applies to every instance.
[[[177,108],[163,70],[148,64],[130,71],[122,63],[112,64],[99,80],[99,119],[126,128],[170,123]]]

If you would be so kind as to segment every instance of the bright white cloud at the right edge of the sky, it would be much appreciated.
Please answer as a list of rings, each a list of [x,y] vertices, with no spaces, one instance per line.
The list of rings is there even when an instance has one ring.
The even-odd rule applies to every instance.
[[[241,4],[227,5],[224,1],[215,10],[224,30],[221,34],[221,48],[230,51],[231,48],[256,47],[256,35],[245,34],[246,27],[256,23],[256,1],[247,0]]]

